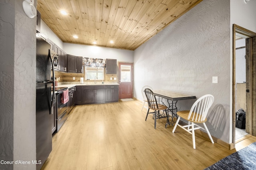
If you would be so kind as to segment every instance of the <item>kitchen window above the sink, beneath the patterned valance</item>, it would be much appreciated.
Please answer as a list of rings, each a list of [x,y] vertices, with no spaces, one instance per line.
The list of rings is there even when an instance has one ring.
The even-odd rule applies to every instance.
[[[85,66],[85,79],[94,80],[95,76],[96,80],[104,80],[104,67]]]

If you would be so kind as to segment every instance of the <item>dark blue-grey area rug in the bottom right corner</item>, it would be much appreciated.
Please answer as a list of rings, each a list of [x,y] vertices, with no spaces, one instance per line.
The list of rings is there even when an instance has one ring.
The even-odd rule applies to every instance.
[[[223,158],[205,170],[256,170],[256,142]]]

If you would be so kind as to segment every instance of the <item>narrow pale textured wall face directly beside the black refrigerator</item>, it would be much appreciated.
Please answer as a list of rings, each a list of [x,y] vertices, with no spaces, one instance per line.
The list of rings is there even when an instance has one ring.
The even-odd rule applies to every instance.
[[[36,160],[36,17],[26,16],[15,0],[14,160]],[[36,4],[36,2],[35,2]],[[14,164],[14,169],[35,169]]]

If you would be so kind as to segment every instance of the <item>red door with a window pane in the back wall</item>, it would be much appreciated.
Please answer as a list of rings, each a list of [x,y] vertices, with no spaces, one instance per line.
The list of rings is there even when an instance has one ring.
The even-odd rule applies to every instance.
[[[119,99],[133,97],[133,63],[119,63]]]

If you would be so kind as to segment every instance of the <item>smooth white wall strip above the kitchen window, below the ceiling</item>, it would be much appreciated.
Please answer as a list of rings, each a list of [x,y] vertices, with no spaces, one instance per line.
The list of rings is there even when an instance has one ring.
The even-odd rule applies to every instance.
[[[106,47],[96,47],[91,45],[79,45],[63,43],[63,50],[70,55],[97,58],[97,59],[117,59],[122,62],[133,62],[134,51],[113,49]]]

